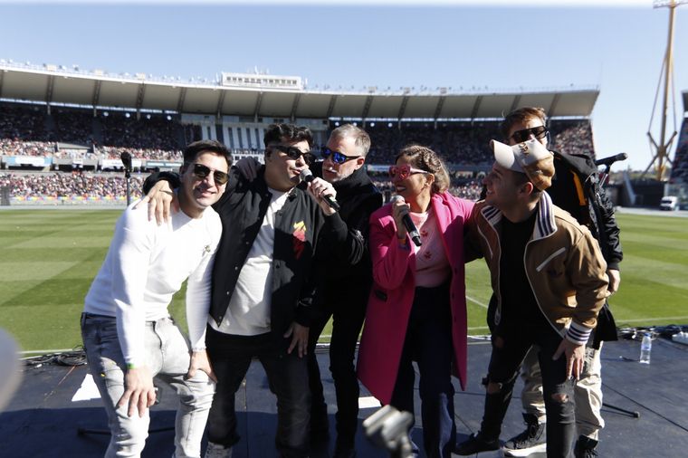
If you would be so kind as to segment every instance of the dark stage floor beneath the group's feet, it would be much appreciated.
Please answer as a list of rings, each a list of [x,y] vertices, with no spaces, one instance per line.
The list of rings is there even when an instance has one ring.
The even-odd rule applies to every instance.
[[[607,426],[597,447],[605,457],[682,457],[688,456],[688,346],[667,339],[656,339],[652,364],[635,360],[640,343],[635,340],[608,342],[602,354],[605,403],[618,406],[639,417],[604,407]],[[490,346],[473,340],[469,349],[469,386],[454,398],[459,439],[475,432],[483,411],[481,377],[486,370]],[[334,437],[334,386],[328,370],[326,353],[318,355],[325,396],[330,403],[330,434]],[[26,367],[24,382],[13,401],[0,415],[0,457],[95,457],[102,456],[109,436],[78,434],[80,428],[103,430],[106,417],[100,399],[72,401],[87,374],[85,366],[64,367],[54,364]],[[502,431],[502,440],[522,430],[521,382]],[[361,396],[368,396],[365,389]],[[168,457],[173,453],[175,398],[170,388],[163,388],[161,402],[153,407],[151,429],[144,457]],[[416,413],[419,412],[416,396]],[[273,457],[273,433],[276,423],[275,400],[267,388],[263,369],[253,363],[246,382],[237,394],[241,410],[242,440],[234,449],[234,458]],[[361,409],[360,420],[377,407]],[[422,443],[422,424],[416,416],[413,438]],[[359,457],[384,457],[387,454],[358,434]],[[333,443],[333,441],[331,441]],[[333,444],[313,450],[313,457],[326,457]],[[204,444],[205,448],[205,444]],[[542,454],[543,456],[544,454]],[[481,457],[502,456],[501,452],[481,453]]]

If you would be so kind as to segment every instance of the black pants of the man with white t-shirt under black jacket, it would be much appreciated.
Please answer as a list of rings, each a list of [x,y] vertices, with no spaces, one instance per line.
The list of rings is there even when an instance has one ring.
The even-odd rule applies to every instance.
[[[236,433],[234,394],[246,376],[252,358],[258,358],[268,377],[270,391],[277,396],[277,435],[280,456],[305,457],[309,453],[311,393],[306,358],[296,350],[288,354],[288,341],[275,341],[271,334],[232,336],[207,328],[208,357],[217,386],[208,415],[208,441],[232,446]]]

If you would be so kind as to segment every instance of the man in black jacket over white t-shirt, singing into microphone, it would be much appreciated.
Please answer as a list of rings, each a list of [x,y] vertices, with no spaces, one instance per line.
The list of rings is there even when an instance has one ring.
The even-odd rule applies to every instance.
[[[231,456],[239,442],[234,395],[257,358],[277,396],[275,444],[284,457],[309,454],[311,393],[307,353],[316,314],[314,260],[324,215],[298,186],[312,161],[311,130],[272,124],[265,130],[265,167],[250,180],[232,167],[215,205],[223,233],[213,269],[206,344],[217,377],[208,417],[209,458]],[[167,179],[149,177],[148,196],[170,205]],[[330,193],[333,194],[333,193]],[[159,205],[155,205],[159,207]],[[160,208],[151,210],[165,214]]]

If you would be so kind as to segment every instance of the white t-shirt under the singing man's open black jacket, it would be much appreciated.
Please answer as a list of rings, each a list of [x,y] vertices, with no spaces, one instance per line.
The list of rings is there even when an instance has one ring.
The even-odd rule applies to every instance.
[[[274,189],[270,189],[270,192],[270,205],[239,272],[225,318],[219,326],[215,320],[208,318],[213,329],[225,334],[257,336],[270,332],[274,215],[282,209],[289,195],[289,192]]]

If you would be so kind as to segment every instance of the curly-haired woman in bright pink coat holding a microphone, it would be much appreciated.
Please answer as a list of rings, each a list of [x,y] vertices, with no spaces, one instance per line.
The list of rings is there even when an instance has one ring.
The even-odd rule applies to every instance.
[[[398,198],[370,216],[374,284],[358,352],[358,377],[383,404],[414,412],[412,361],[420,372],[429,457],[454,448],[453,372],[466,380],[464,224],[473,202],[447,193],[449,175],[430,148],[409,146],[389,168]],[[416,246],[402,223],[413,220]]]

